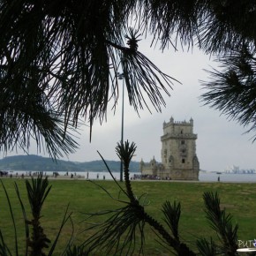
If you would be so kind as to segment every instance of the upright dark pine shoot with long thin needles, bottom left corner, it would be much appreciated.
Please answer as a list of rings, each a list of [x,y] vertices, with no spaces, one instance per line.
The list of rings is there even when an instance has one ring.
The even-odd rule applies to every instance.
[[[37,177],[37,178],[32,178],[31,183],[26,180],[26,192],[27,192],[27,199],[29,201],[30,205],[30,210],[31,214],[33,216],[32,220],[28,220],[27,214],[26,214],[26,207],[24,206],[23,200],[21,199],[20,193],[19,193],[19,187],[15,183],[15,190],[17,197],[19,199],[20,207],[22,209],[23,213],[23,218],[24,218],[24,225],[25,225],[25,230],[26,230],[26,239],[25,239],[25,252],[24,255],[28,256],[51,256],[52,253],[55,250],[57,240],[59,238],[59,235],[61,233],[61,230],[64,227],[64,224],[70,220],[71,215],[67,214],[67,211],[65,212],[63,222],[61,223],[61,227],[58,231],[58,234],[56,235],[56,238],[49,249],[49,253],[45,253],[44,250],[45,248],[49,248],[50,240],[49,238],[45,235],[43,228],[41,227],[41,207],[46,200],[49,191],[51,189],[51,186],[49,186],[49,181],[48,178],[42,178],[42,176]],[[14,228],[14,237],[15,237],[15,255],[20,255],[19,254],[19,237],[17,235],[17,225],[16,221],[13,215],[12,211],[12,205],[11,205],[11,200],[9,198],[9,195],[5,189],[4,183],[1,180],[1,184],[3,185],[5,196],[8,200],[8,205],[9,209],[11,212],[11,220]],[[32,231],[32,234],[30,235],[30,230]],[[11,256],[11,250],[8,248],[4,237],[2,235],[2,231],[0,230],[0,252],[1,255],[3,256]]]

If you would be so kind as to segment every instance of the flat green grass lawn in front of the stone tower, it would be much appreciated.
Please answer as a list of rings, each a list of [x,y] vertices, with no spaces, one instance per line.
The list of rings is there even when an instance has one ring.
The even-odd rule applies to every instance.
[[[23,217],[14,191],[14,181],[19,185],[20,193],[27,206],[24,180],[3,179],[18,225],[19,243],[22,245],[25,237]],[[112,200],[101,187],[86,180],[56,179],[49,180],[49,184],[52,185],[52,189],[42,209],[41,225],[51,240],[56,236],[68,204],[69,212],[72,212],[72,222],[78,244],[91,235],[90,232],[92,231],[83,232],[90,225],[90,222],[101,221],[100,219],[87,220],[87,213],[121,206],[116,200]],[[97,184],[107,189],[114,198],[118,198],[119,190],[114,182],[97,181]],[[202,194],[208,191],[219,192],[222,207],[225,207],[227,212],[233,215],[233,222],[238,223],[238,238],[240,240],[251,240],[256,237],[256,222],[253,221],[256,209],[256,184],[134,181],[132,187],[133,192],[138,197],[143,195],[142,199],[147,204],[147,213],[153,215],[159,222],[162,222],[163,202],[176,200],[181,203],[180,234],[182,240],[192,248],[198,237],[215,237],[215,232],[209,228],[204,213]],[[2,185],[0,187],[0,228],[4,234],[4,239],[11,247],[14,241],[13,227]],[[55,255],[61,254],[71,234],[72,224],[69,222],[64,227]],[[148,229],[145,255],[171,255],[155,239],[154,232]]]

